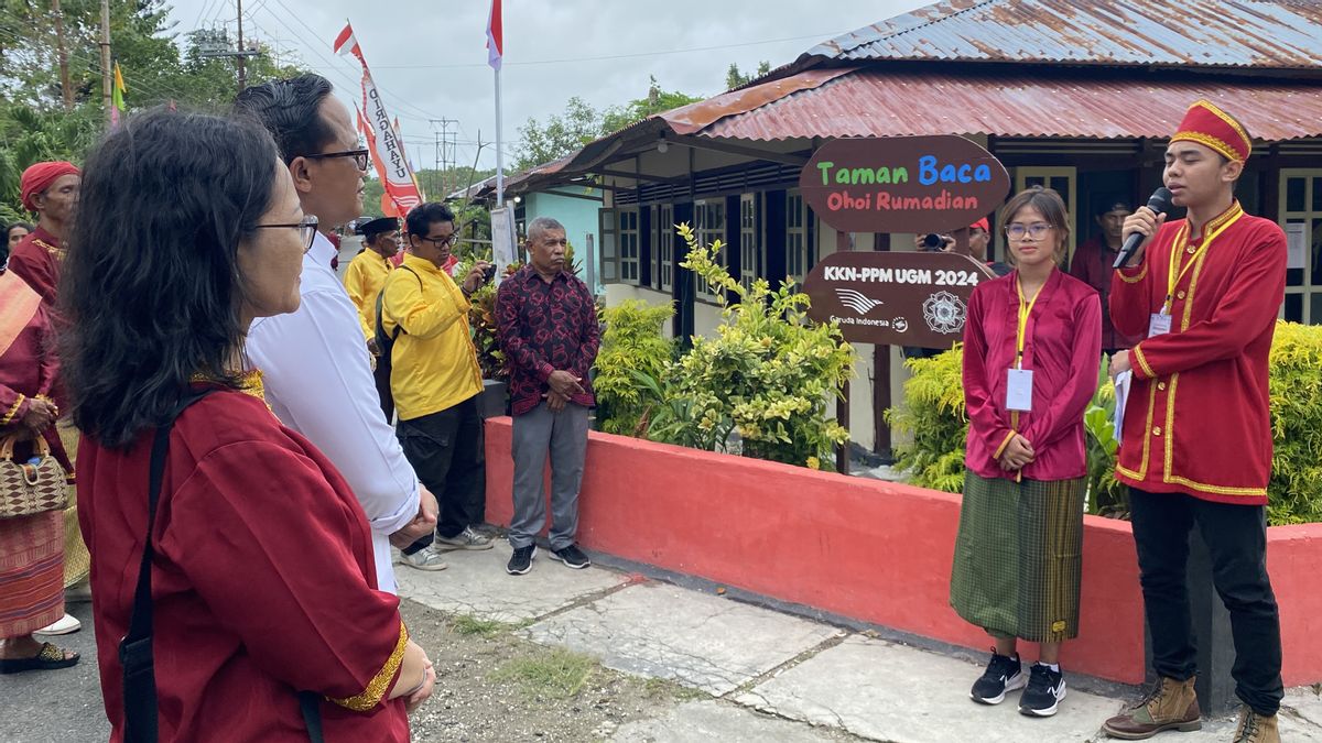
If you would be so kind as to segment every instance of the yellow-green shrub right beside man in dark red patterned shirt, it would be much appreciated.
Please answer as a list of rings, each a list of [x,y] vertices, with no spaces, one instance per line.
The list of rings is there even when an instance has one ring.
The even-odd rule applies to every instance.
[[[635,372],[658,378],[673,360],[674,344],[665,338],[661,327],[674,316],[674,307],[625,300],[607,307],[602,315],[605,333],[592,379],[598,420],[607,434],[637,436],[649,398]]]

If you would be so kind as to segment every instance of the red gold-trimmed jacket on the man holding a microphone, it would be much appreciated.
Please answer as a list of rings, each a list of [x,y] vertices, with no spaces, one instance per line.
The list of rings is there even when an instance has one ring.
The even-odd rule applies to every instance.
[[[1117,271],[1112,283],[1117,331],[1147,334],[1167,292],[1171,316],[1170,333],[1130,352],[1116,476],[1149,492],[1263,505],[1272,475],[1266,370],[1285,293],[1285,233],[1239,202],[1196,239],[1187,231],[1185,219],[1162,225],[1142,266]]]

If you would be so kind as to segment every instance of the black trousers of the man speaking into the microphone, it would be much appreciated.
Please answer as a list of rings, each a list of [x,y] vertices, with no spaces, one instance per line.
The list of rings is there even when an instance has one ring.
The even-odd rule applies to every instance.
[[[1211,554],[1212,583],[1231,615],[1235,694],[1259,714],[1276,714],[1285,690],[1281,623],[1266,574],[1266,509],[1133,488],[1129,505],[1157,673],[1185,681],[1198,672],[1185,582],[1196,524]]]

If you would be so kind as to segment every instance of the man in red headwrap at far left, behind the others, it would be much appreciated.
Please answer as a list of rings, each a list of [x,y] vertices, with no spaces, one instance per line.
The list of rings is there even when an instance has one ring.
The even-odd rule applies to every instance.
[[[37,163],[22,172],[19,190],[22,208],[37,214],[37,229],[13,249],[9,268],[37,290],[49,308],[59,283],[61,243],[78,204],[82,171],[73,163]]]

